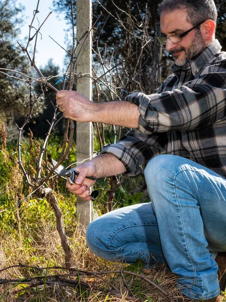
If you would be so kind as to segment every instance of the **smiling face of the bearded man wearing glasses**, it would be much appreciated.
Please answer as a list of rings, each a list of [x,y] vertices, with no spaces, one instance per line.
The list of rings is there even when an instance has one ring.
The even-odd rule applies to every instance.
[[[173,34],[182,34],[192,28],[194,25],[187,20],[186,10],[176,10],[171,13],[162,14],[160,17],[160,26],[162,35],[169,37]],[[175,63],[182,66],[189,59],[198,54],[205,48],[205,41],[200,31],[192,30],[182,41],[172,43],[167,39],[166,50],[169,51],[175,60]]]

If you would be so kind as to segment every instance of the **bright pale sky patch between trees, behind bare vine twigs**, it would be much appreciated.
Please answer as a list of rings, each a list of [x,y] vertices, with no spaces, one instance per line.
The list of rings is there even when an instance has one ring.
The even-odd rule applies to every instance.
[[[29,34],[29,24],[31,24],[33,18],[33,11],[37,7],[37,0],[17,0],[17,5],[23,5],[25,7],[24,11],[24,26],[21,27],[21,35],[18,37],[18,41],[22,40]],[[52,0],[40,0],[39,2],[39,13],[37,14],[38,20],[41,23],[45,20],[50,11],[52,11]],[[52,41],[49,36],[51,36],[56,42],[66,48],[64,44],[65,31],[69,28],[63,20],[63,15],[57,15],[52,12],[47,21],[44,23],[41,34],[39,35],[37,41],[37,54],[36,54],[36,64],[38,66],[44,66],[49,58],[53,59],[53,62],[60,66],[60,71],[62,71],[63,57],[65,51],[60,48],[54,41]],[[38,28],[38,21],[35,20],[33,24]],[[26,40],[27,41],[27,40]],[[23,43],[23,46],[24,45]]]

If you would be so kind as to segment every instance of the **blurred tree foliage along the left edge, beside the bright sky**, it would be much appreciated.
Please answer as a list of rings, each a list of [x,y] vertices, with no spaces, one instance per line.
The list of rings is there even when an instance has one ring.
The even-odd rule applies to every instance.
[[[23,8],[18,8],[15,0],[0,0],[0,67],[28,74],[30,64],[17,44],[22,24],[22,11]],[[20,74],[17,72],[0,71],[20,78]],[[27,101],[26,98],[29,91],[26,85],[26,82],[9,78],[0,73],[0,122],[6,122],[11,117],[16,118],[28,113],[29,98]]]

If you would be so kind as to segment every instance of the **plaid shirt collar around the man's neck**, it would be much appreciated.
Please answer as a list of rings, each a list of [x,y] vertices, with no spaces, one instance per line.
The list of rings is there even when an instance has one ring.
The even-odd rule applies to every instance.
[[[210,61],[213,56],[220,52],[221,45],[217,39],[215,39],[212,43],[210,43],[207,47],[205,47],[201,52],[199,52],[196,56],[191,58],[186,64],[183,66],[178,66],[173,64],[172,71],[178,75],[182,71],[188,71],[191,68],[192,74],[195,75],[198,73],[200,69],[202,69],[208,61]]]

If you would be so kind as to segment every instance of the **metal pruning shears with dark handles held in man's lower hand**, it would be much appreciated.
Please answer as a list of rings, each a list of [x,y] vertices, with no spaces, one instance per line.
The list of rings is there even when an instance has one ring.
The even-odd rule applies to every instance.
[[[54,167],[58,164],[54,159],[52,159],[52,165],[50,165],[50,168],[54,170],[54,173],[56,173],[59,177],[66,179],[70,185],[75,184],[74,180],[76,179],[76,175],[79,175],[79,171],[77,171],[74,168],[71,168],[70,170],[65,169],[62,165],[59,165],[58,168],[54,169]],[[88,179],[91,180],[98,180],[97,177],[95,176],[87,176]],[[92,200],[94,200],[98,196],[99,192],[97,190],[94,190],[91,194],[90,197]]]

